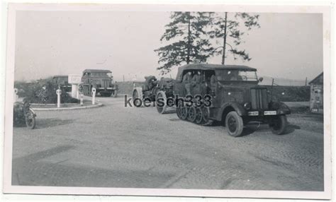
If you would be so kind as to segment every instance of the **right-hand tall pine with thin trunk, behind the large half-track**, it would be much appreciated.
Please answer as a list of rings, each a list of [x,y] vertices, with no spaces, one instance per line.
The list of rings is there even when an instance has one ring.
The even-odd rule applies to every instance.
[[[248,13],[235,13],[235,16],[228,17],[228,12],[211,13],[211,30],[208,35],[216,40],[220,47],[213,48],[213,54],[222,56],[222,64],[225,64],[225,58],[228,54],[233,54],[233,58],[242,58],[244,61],[250,61],[251,57],[245,49],[239,49],[242,40],[243,28],[249,31],[252,28],[260,28],[258,23],[259,15],[250,15]],[[243,26],[240,26],[243,23]]]

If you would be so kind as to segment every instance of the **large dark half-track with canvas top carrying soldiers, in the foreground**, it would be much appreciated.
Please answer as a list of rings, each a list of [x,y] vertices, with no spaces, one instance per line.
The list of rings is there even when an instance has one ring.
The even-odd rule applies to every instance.
[[[197,83],[184,82],[184,78],[188,77],[186,74],[193,76],[196,73],[200,75]],[[181,66],[172,90],[174,97],[179,96],[179,100],[175,100],[177,116],[196,124],[222,121],[228,134],[235,137],[242,135],[244,125],[250,121],[269,124],[272,133],[284,133],[286,115],[291,114],[291,111],[283,102],[271,100],[269,90],[258,85],[260,81],[262,78],[257,77],[257,69],[248,66]],[[165,100],[169,96],[164,95],[164,92],[157,93],[157,97],[166,97]],[[165,107],[158,105],[159,101],[162,100],[157,100],[158,111]]]

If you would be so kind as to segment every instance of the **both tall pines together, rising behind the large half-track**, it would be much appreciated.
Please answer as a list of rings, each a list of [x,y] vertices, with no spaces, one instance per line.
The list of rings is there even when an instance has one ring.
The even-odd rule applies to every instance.
[[[250,61],[245,49],[240,49],[245,34],[242,30],[248,32],[260,28],[259,15],[233,14],[228,18],[228,12],[172,12],[171,22],[165,25],[166,30],[160,38],[167,45],[155,49],[160,65],[157,69],[164,74],[174,66],[202,63],[218,55],[225,64],[228,54],[232,54],[234,59],[240,57]]]

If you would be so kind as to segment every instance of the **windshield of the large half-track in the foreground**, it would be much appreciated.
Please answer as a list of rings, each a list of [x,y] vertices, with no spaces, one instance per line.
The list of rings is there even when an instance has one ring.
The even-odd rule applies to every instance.
[[[258,81],[256,71],[219,70],[216,72],[218,81]]]

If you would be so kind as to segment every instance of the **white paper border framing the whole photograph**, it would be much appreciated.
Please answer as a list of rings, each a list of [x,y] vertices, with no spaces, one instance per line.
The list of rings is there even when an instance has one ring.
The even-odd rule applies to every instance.
[[[215,11],[250,13],[322,13],[324,72],[324,191],[252,191],[215,189],[133,189],[64,186],[13,186],[11,184],[13,145],[13,81],[15,63],[16,11]],[[331,198],[331,6],[256,6],[228,4],[9,4],[6,87],[4,114],[4,184],[6,194],[74,194],[115,196],[196,196],[230,198]]]

